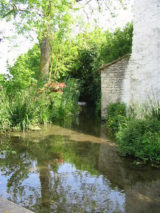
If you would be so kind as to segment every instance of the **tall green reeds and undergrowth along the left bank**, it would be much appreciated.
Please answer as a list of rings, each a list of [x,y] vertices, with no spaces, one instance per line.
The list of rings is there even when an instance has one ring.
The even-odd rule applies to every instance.
[[[0,91],[0,130],[26,130],[38,124],[68,120],[78,111],[77,82],[70,79],[61,92],[50,88],[39,94],[37,87],[13,94]]]

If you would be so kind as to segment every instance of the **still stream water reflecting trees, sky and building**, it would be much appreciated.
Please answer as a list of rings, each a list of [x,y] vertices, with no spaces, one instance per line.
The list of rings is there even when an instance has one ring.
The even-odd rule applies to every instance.
[[[160,212],[160,170],[121,158],[91,112],[0,146],[0,196],[34,212]]]

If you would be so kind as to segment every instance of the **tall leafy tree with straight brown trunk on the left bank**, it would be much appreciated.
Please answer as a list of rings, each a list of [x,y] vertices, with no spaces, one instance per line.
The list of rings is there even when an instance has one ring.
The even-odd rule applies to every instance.
[[[74,0],[1,0],[0,17],[14,18],[19,32],[34,30],[40,44],[39,80],[48,79],[51,41],[59,32],[63,37],[71,23]]]

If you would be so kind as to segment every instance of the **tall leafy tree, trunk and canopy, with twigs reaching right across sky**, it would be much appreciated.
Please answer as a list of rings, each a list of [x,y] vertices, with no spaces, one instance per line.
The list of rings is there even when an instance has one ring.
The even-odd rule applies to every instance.
[[[116,0],[125,5],[128,0]],[[83,5],[81,3],[84,3]],[[111,0],[0,0],[0,18],[14,20],[19,33],[34,31],[40,45],[39,81],[47,81],[55,66],[57,46],[67,40],[68,32],[73,26],[73,13],[90,3],[111,10]],[[112,11],[111,11],[112,13]],[[69,36],[68,36],[69,37]],[[56,61],[57,62],[57,61]],[[55,66],[55,70],[56,70]],[[56,72],[55,72],[56,73]],[[55,74],[56,75],[56,74]],[[54,76],[56,79],[57,77]]]

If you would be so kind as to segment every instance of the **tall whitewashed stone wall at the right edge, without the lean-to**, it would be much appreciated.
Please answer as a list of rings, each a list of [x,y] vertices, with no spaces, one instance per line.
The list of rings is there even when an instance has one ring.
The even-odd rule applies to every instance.
[[[126,103],[160,101],[160,0],[135,0],[132,55]]]

